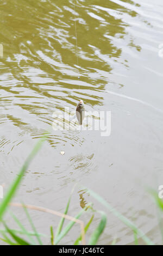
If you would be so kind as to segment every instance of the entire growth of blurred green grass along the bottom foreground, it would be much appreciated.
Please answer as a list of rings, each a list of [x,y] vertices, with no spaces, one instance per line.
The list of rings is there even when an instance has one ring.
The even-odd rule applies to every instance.
[[[70,198],[68,199],[68,203],[66,205],[64,214],[62,214],[61,212],[46,209],[40,206],[11,203],[11,200],[14,197],[15,192],[18,189],[18,186],[21,184],[24,174],[26,174],[26,170],[28,169],[30,162],[34,159],[35,155],[41,148],[41,145],[45,139],[46,139],[46,136],[41,138],[40,141],[35,145],[34,149],[32,150],[32,153],[30,153],[30,155],[27,157],[27,160],[24,162],[16,179],[12,182],[7,194],[5,195],[4,199],[2,200],[2,203],[0,204],[0,222],[4,226],[4,229],[0,229],[0,233],[3,236],[3,238],[0,238],[0,239],[3,242],[8,243],[8,245],[42,245],[43,244],[42,237],[46,237],[46,235],[40,234],[39,232],[37,232],[35,225],[32,221],[32,218],[30,217],[28,212],[28,209],[33,209],[33,210],[46,212],[46,214],[53,214],[61,217],[61,220],[58,224],[58,228],[55,231],[55,234],[54,234],[53,227],[52,226],[50,227],[49,240],[51,241],[51,245],[58,245],[58,243],[62,239],[64,239],[64,237],[72,229],[75,223],[78,223],[80,225],[81,234],[74,241],[74,245],[79,245],[81,243],[83,243],[84,245],[86,243],[85,234],[93,221],[93,217],[98,212],[99,214],[101,214],[101,221],[99,222],[98,226],[90,235],[90,239],[88,242],[89,245],[96,245],[99,240],[99,237],[103,233],[106,226],[106,220],[107,220],[106,214],[103,211],[96,211],[95,209],[93,209],[92,204],[87,204],[81,211],[78,212],[78,214],[75,217],[71,217],[67,215],[68,209],[71,203],[72,193],[70,195]],[[137,228],[133,222],[131,222],[130,220],[128,220],[128,218],[120,214],[120,212],[118,212],[116,209],[112,208],[112,206],[108,202],[106,202],[104,198],[99,196],[99,194],[95,193],[94,191],[86,187],[84,187],[84,190],[87,193],[89,193],[90,196],[98,200],[98,202],[101,203],[103,206],[105,206],[105,208],[108,209],[110,212],[112,212],[112,214],[114,214],[117,218],[119,218],[125,225],[127,225],[128,228],[133,230],[135,245],[138,245],[139,239],[143,240],[147,245],[154,245],[154,243],[149,239],[149,237],[147,237],[143,233],[143,231]],[[156,193],[153,190],[150,190],[149,192],[152,194],[155,200],[155,203],[158,205],[161,211],[163,211],[163,201],[158,197],[158,193]],[[16,206],[16,207],[22,207],[24,209],[24,211],[26,212],[27,219],[32,227],[32,231],[28,231],[20,222],[20,220],[18,220],[18,218],[11,211],[10,211],[11,217],[17,223],[20,229],[10,229],[8,227],[7,223],[3,220],[3,216],[5,212],[9,210],[10,205]],[[83,214],[87,214],[87,212],[89,213],[92,212],[92,216],[89,222],[87,222],[87,224],[84,227],[84,222],[79,220],[79,218]],[[65,219],[69,220],[69,222],[64,227]],[[24,236],[26,236],[26,240],[23,238]],[[112,241],[112,245],[115,245],[115,244],[116,244],[116,239]]]

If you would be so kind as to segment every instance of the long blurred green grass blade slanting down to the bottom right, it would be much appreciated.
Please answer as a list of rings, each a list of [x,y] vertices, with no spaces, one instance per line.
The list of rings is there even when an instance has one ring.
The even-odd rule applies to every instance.
[[[103,204],[107,209],[109,209],[115,216],[117,216],[124,224],[127,225],[127,227],[129,227],[134,232],[136,232],[137,235],[139,235],[143,239],[143,241],[145,241],[147,243],[147,245],[154,245],[154,243],[139,228],[137,228],[133,222],[131,222],[126,217],[124,217],[122,214],[120,214],[120,212],[118,212],[117,210],[112,208],[112,206],[108,202],[106,202],[105,199],[103,199],[101,196],[99,196],[99,194],[93,192],[90,189],[87,189],[87,188],[84,188],[84,189],[87,190],[87,192],[90,193],[92,197],[94,197],[101,204]]]

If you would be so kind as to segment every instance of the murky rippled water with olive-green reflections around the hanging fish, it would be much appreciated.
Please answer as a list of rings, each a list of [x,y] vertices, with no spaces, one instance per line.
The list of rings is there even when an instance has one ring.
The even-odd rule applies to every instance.
[[[50,132],[15,202],[63,212],[72,187],[79,182],[160,242],[155,206],[145,185],[163,184],[162,11],[161,0],[76,1],[78,66],[73,1],[1,1],[0,182],[5,184],[4,193],[37,139]],[[74,111],[79,99],[87,111],[111,111],[109,137],[99,131],[52,129],[53,113],[64,107]],[[70,215],[90,201],[76,188]],[[59,220],[31,214],[44,233]],[[21,210],[17,215],[26,222]],[[94,224],[98,221],[97,216]],[[73,232],[65,243],[72,243],[79,229]],[[109,244],[115,236],[118,244],[133,242],[131,231],[108,212],[99,243]]]

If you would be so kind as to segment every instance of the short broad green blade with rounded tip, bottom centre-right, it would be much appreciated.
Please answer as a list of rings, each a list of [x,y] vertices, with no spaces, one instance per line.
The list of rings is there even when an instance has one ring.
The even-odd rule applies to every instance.
[[[101,222],[99,223],[98,227],[95,229],[95,231],[93,231],[90,241],[89,241],[89,245],[96,245],[99,236],[101,236],[101,234],[104,231],[104,228],[106,226],[106,221],[107,221],[107,217],[105,212],[100,211],[101,215],[102,215],[102,219]]]

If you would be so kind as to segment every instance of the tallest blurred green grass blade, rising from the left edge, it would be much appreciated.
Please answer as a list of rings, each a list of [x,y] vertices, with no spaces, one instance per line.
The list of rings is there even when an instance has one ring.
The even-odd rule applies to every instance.
[[[27,160],[24,162],[15,181],[12,182],[6,196],[2,200],[2,203],[0,204],[0,221],[2,220],[3,214],[4,214],[5,210],[7,209],[8,204],[10,203],[11,199],[14,197],[14,194],[18,188],[18,185],[20,185],[20,182],[23,178],[24,173],[26,172],[26,170],[27,170],[30,162],[33,160],[34,156],[37,154],[37,152],[41,148],[42,143],[43,143],[43,138],[40,139],[39,142],[36,143],[34,149],[32,150],[32,153],[29,154]]]

